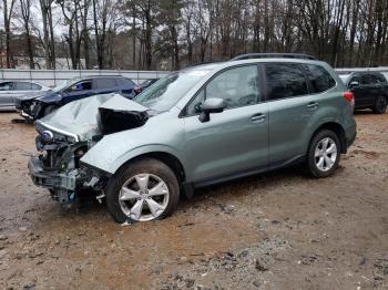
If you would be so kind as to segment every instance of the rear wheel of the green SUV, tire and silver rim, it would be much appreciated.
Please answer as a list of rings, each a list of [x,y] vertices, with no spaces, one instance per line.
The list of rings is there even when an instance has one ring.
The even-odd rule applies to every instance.
[[[325,141],[327,141],[325,149]],[[330,147],[335,145],[335,147]],[[331,148],[331,149],[330,149]],[[340,159],[340,142],[330,130],[318,132],[312,139],[307,154],[307,169],[313,177],[331,176],[338,168]]]

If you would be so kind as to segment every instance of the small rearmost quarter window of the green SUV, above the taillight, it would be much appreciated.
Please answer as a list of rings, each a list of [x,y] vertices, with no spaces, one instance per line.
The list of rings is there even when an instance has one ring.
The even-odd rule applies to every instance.
[[[321,93],[336,85],[336,81],[323,66],[307,64],[306,70],[310,83],[310,93]]]

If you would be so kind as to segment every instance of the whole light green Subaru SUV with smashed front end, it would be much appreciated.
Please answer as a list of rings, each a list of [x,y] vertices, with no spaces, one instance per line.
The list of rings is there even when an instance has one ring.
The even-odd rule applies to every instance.
[[[356,137],[353,106],[333,69],[303,55],[194,66],[133,101],[96,95],[38,121],[29,170],[62,205],[92,191],[118,222],[161,219],[212,184],[297,163],[330,176]]]

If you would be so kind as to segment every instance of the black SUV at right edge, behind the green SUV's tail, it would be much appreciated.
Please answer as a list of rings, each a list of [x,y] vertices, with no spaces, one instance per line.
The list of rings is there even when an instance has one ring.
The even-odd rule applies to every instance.
[[[355,72],[345,81],[355,96],[355,108],[371,108],[384,114],[388,103],[388,82],[379,72]]]

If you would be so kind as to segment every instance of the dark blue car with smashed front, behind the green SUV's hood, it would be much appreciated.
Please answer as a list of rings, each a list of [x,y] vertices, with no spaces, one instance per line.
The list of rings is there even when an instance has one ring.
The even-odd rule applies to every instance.
[[[60,106],[92,95],[120,93],[126,99],[133,99],[140,91],[133,81],[120,75],[75,77],[48,92],[17,97],[14,105],[21,116],[35,121]]]

